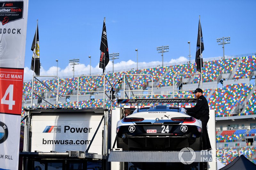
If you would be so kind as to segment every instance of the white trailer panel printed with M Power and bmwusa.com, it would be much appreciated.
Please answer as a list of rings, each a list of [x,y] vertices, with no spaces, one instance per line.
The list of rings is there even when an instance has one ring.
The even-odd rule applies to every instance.
[[[40,115],[31,119],[31,152],[86,151],[102,115]],[[89,152],[102,154],[103,123]]]

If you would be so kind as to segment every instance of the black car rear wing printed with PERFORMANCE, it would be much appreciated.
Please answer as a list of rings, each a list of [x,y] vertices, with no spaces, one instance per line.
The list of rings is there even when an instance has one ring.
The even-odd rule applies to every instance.
[[[118,99],[118,103],[196,103],[196,98],[165,98],[165,99]]]

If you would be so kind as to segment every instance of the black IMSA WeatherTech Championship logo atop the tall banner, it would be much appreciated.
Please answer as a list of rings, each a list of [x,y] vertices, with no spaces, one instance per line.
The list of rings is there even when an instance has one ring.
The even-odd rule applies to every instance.
[[[0,2],[0,22],[9,22],[23,18],[23,1]]]

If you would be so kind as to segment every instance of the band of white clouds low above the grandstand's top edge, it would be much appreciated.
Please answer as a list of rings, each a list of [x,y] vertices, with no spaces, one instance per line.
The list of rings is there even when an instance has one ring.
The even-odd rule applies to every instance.
[[[164,66],[169,65],[171,63],[179,63],[179,62],[187,62],[188,59],[181,56],[178,59],[172,59],[169,62],[164,62]],[[150,61],[150,62],[139,62],[138,67],[139,69],[143,68],[149,68],[153,66],[160,65],[162,66],[162,61]],[[68,65],[64,69],[61,69],[58,67],[58,76],[59,77],[67,77],[67,76],[73,76],[73,66]],[[121,61],[118,63],[114,63],[114,71],[115,72],[120,72],[120,71],[125,71],[127,69],[131,68],[137,68],[137,62],[128,60],[128,61]],[[111,61],[109,61],[107,67],[106,67],[106,72],[112,72],[113,70],[113,64]],[[96,67],[91,67],[91,73],[92,74],[102,74],[102,69],[99,68],[99,63]],[[84,65],[84,64],[77,64],[75,65],[75,75],[81,75],[81,74],[90,74],[90,65]],[[57,75],[57,67],[52,66],[48,70],[44,70],[44,67],[41,67],[40,69],[40,75],[47,75],[47,76],[55,76]],[[24,68],[24,81],[31,80],[33,76],[33,71],[30,70],[30,68],[25,67]]]

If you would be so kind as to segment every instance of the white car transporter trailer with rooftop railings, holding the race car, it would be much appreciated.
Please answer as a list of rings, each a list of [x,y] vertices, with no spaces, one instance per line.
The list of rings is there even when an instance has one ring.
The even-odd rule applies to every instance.
[[[180,74],[175,74],[174,77],[176,75]],[[166,99],[168,102],[161,102],[157,98],[153,99],[152,88],[151,90],[133,90],[128,76],[148,76],[151,78],[151,87],[153,87],[153,76],[150,74],[125,74],[124,99],[118,99],[119,106],[114,103],[113,95],[107,94],[107,89],[114,89],[116,83],[113,86],[105,75],[79,76],[77,78],[77,95],[59,95],[59,77],[57,76],[52,76],[58,82],[56,91],[40,81],[39,78],[44,76],[33,76],[31,106],[33,105],[33,96],[38,96],[52,107],[24,108],[26,112],[24,149],[20,152],[22,168],[24,170],[216,169],[216,161],[214,161],[216,152],[213,152],[216,149],[214,110],[210,110],[210,116],[212,116],[209,122],[212,124],[209,126],[208,122],[208,131],[214,134],[210,137],[212,151],[191,151],[189,148],[183,151],[122,151],[122,148],[116,148],[116,122],[122,118],[125,108],[135,110],[141,103],[178,103],[179,106],[179,103],[188,103],[188,100],[191,103],[192,101],[196,102],[195,98],[175,98],[174,95],[176,91],[192,90],[175,90],[174,88],[173,97]],[[84,77],[100,77],[103,82],[101,91],[80,91],[79,86],[81,87],[82,83],[80,81]],[[34,81],[42,83],[46,90],[36,91]],[[121,79],[116,82],[120,81]],[[127,84],[128,88],[125,87]],[[106,87],[107,85],[109,87]],[[148,100],[135,99],[135,96],[145,95],[143,94],[145,91],[150,93],[151,98]],[[43,93],[46,94],[46,98],[41,96]],[[56,105],[47,101],[49,93],[56,95]],[[79,101],[79,97],[92,96],[92,94],[103,96],[102,107],[80,107],[78,102],[77,107],[74,108],[58,107],[59,96],[77,96],[77,101]],[[110,108],[105,107],[106,96],[111,100]],[[133,99],[130,102],[124,102],[131,99],[131,96]],[[115,108],[112,108],[112,104],[115,105]]]

